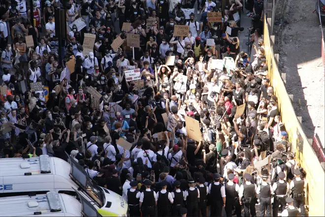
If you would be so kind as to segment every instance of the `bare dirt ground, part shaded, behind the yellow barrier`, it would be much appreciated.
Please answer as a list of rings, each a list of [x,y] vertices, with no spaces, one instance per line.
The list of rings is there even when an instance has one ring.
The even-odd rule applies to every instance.
[[[293,94],[293,108],[302,117],[307,138],[316,126],[324,147],[324,73],[321,59],[321,26],[316,0],[277,0],[274,23],[275,48],[279,69],[286,73],[286,89]],[[324,31],[324,26],[323,26]]]

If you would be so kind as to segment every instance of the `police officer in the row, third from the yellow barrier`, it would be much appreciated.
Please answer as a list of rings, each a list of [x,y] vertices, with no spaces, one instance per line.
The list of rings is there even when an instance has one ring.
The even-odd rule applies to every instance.
[[[260,195],[260,216],[264,217],[265,210],[266,216],[271,216],[271,195],[272,187],[267,182],[268,176],[262,175],[262,183],[258,186],[256,193]]]

